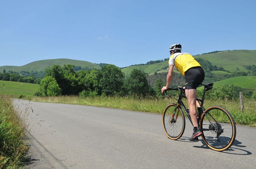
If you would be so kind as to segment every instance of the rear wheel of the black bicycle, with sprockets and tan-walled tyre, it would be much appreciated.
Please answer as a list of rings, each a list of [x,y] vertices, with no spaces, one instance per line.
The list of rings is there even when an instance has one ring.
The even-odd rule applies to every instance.
[[[200,123],[204,143],[215,151],[230,148],[236,138],[236,125],[232,115],[221,106],[210,106],[204,112]]]

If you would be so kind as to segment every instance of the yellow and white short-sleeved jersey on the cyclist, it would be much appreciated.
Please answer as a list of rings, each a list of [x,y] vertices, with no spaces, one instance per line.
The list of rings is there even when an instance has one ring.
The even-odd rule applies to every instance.
[[[183,76],[185,76],[188,69],[198,66],[201,67],[196,59],[189,53],[174,53],[169,58],[169,65],[175,65]]]

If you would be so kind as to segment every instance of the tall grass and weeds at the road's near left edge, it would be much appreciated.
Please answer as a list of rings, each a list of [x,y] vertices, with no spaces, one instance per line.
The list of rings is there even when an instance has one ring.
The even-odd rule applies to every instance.
[[[0,94],[0,168],[21,168],[28,150],[26,126],[14,110],[12,99]]]

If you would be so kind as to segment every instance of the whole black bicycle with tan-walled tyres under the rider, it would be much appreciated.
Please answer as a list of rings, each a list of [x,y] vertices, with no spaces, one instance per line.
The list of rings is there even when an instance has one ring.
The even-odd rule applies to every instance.
[[[201,84],[204,86],[202,99],[197,98],[201,107],[198,113],[198,126],[203,132],[203,142],[212,150],[224,151],[232,146],[236,138],[236,124],[232,115],[224,108],[218,105],[203,107],[205,92],[213,88],[213,83]],[[186,113],[192,126],[189,109],[186,108],[182,99],[186,99],[185,89],[183,87],[168,88],[164,91],[166,97],[170,96],[167,91],[175,91],[173,96],[177,103],[171,103],[166,106],[163,113],[163,128],[169,139],[178,140],[185,130]],[[179,94],[177,94],[177,92]]]

